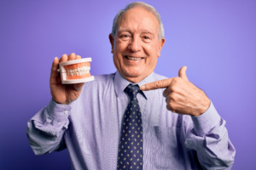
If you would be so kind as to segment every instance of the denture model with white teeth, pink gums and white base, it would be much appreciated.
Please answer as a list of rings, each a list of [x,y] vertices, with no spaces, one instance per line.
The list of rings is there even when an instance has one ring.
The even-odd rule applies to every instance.
[[[62,84],[75,84],[80,82],[90,82],[94,80],[90,76],[91,58],[74,59],[60,63]]]

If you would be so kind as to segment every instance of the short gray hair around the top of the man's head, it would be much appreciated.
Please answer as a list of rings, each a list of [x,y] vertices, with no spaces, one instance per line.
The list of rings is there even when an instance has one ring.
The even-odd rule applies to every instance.
[[[145,9],[148,10],[148,12],[154,14],[154,16],[156,17],[156,19],[159,22],[159,31],[158,31],[158,39],[159,41],[165,37],[165,31],[164,31],[164,26],[162,24],[162,21],[160,19],[160,14],[156,11],[156,9],[154,7],[152,7],[151,5],[148,5],[147,3],[143,3],[143,2],[135,2],[135,3],[129,3],[124,9],[119,10],[118,14],[115,15],[114,19],[113,19],[113,26],[112,26],[112,36],[115,36],[115,29],[117,26],[117,21],[119,19],[119,16],[123,13],[125,13],[125,11],[129,10],[130,8],[134,8],[134,7],[143,7]]]

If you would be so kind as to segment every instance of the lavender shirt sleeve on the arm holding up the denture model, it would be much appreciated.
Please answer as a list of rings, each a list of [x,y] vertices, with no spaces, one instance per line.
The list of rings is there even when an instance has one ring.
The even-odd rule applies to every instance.
[[[53,99],[27,122],[26,134],[36,155],[66,149],[63,134],[68,127],[71,105],[60,105]]]

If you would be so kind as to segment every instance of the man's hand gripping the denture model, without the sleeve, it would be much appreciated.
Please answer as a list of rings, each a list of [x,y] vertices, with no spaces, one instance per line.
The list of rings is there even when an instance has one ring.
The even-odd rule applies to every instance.
[[[68,56],[67,54],[63,54],[60,60],[55,57],[52,63],[49,77],[50,94],[52,99],[58,104],[68,105],[72,101],[78,99],[81,94],[84,83],[62,84],[61,75],[57,71],[59,69],[59,63],[73,59],[81,59],[81,57],[74,53]]]

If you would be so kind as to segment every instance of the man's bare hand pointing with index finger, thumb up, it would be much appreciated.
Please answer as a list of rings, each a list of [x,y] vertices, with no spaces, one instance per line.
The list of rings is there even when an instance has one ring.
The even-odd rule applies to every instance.
[[[211,101],[207,94],[189,82],[186,70],[187,67],[183,66],[178,71],[178,77],[144,84],[141,90],[166,88],[163,96],[166,98],[167,110],[183,115],[200,116],[207,111]]]

